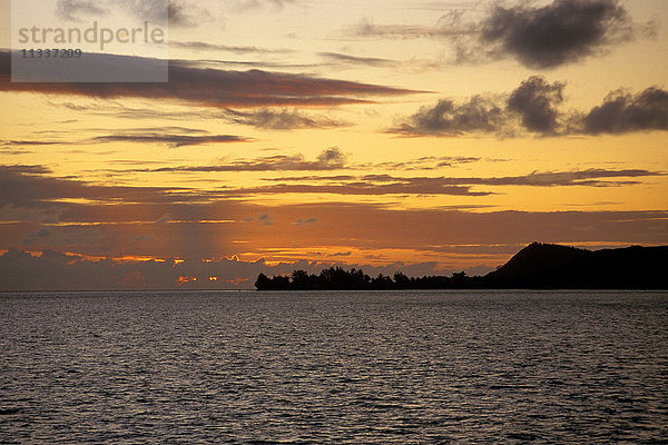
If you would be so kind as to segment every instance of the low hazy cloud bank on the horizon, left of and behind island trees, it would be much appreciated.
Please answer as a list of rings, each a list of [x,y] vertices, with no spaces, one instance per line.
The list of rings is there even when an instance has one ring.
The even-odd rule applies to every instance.
[[[316,254],[314,253],[314,256]],[[76,254],[45,249],[40,255],[11,248],[0,255],[0,288],[2,290],[90,290],[90,289],[220,289],[254,288],[258,274],[289,275],[295,269],[317,274],[332,266],[346,266],[363,269],[376,276],[392,275],[399,268],[413,276],[435,275],[439,266],[434,261],[418,264],[392,263],[374,266],[355,263],[343,264],[338,257],[348,258],[352,251],[332,255],[328,261],[295,259],[267,264],[258,260],[239,260],[237,257],[219,259],[165,258],[159,260],[94,259]],[[343,259],[342,258],[342,259]],[[194,277],[195,280],[185,280]],[[216,277],[215,280],[209,277]]]

